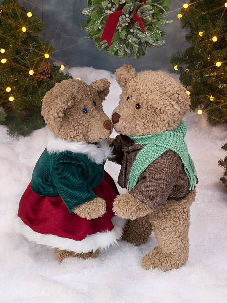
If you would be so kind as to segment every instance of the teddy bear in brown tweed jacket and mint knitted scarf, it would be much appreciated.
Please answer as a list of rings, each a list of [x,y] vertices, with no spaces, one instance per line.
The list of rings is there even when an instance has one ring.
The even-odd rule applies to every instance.
[[[127,218],[122,239],[145,243],[154,231],[158,246],[142,258],[145,269],[184,266],[189,253],[190,206],[197,176],[184,140],[182,118],[190,105],[185,88],[161,71],[137,74],[130,65],[116,70],[122,88],[112,122],[118,183],[127,192],[113,203]]]

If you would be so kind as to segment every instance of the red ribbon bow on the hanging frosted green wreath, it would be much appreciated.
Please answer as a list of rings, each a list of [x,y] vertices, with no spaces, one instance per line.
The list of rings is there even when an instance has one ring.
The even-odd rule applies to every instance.
[[[146,1],[147,0],[140,0],[139,2],[143,3],[143,2],[146,2]],[[121,17],[122,13],[123,12],[122,12],[122,9],[121,9],[121,10],[117,10],[116,12],[109,15],[109,17],[107,19],[107,22],[106,22],[106,25],[105,25],[105,28],[103,30],[101,39],[100,39],[99,42],[102,42],[103,40],[106,39],[108,45],[109,46],[111,45],[115,30],[116,30],[117,25],[118,25],[119,18]],[[133,16],[133,23],[136,23],[136,22],[139,22],[139,27],[146,34],[144,24],[143,24],[142,20],[140,19],[140,17],[137,15],[137,9],[136,9],[136,11],[134,13],[134,16]]]

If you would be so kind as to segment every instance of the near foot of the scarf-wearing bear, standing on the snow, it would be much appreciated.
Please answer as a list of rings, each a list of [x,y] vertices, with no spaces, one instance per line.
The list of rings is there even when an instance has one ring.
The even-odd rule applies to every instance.
[[[153,251],[149,252],[142,258],[142,267],[145,269],[159,268],[162,271],[178,269],[185,266],[187,256],[164,253],[160,246],[156,246]]]

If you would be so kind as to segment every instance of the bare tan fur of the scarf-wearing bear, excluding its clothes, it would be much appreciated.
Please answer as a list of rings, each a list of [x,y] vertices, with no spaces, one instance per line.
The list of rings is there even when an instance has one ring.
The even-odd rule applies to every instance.
[[[120,134],[144,136],[173,130],[189,109],[190,98],[185,88],[163,72],[137,74],[132,66],[124,65],[116,70],[116,80],[122,94],[112,113],[112,122]],[[194,200],[195,191],[182,200],[167,200],[158,212],[154,212],[129,193],[116,197],[115,213],[131,219],[122,239],[139,245],[146,242],[154,230],[159,245],[143,257],[144,268],[167,271],[186,264],[189,208]]]

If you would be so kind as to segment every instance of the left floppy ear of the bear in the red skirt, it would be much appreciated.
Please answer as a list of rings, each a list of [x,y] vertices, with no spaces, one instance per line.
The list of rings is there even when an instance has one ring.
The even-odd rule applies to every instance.
[[[49,91],[50,92],[50,91]],[[73,95],[66,94],[58,98],[51,98],[51,94],[47,94],[44,97],[41,114],[44,117],[45,123],[61,125],[63,122],[65,112],[71,108],[75,103]]]

